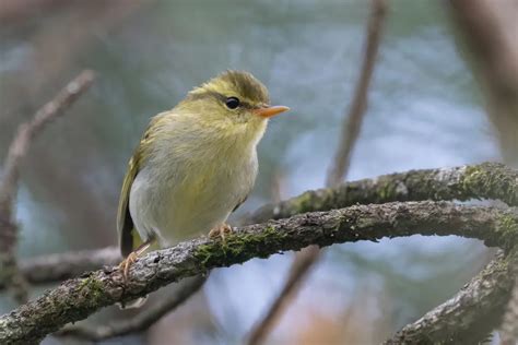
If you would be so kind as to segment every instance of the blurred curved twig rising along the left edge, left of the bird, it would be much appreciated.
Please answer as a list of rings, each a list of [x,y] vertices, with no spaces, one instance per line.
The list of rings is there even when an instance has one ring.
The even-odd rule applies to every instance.
[[[73,79],[56,97],[39,108],[34,117],[19,127],[3,164],[0,181],[0,282],[9,285],[20,301],[27,298],[27,286],[20,274],[15,260],[17,225],[13,217],[20,167],[25,158],[33,139],[42,132],[47,123],[64,112],[92,84],[94,74],[85,70]]]

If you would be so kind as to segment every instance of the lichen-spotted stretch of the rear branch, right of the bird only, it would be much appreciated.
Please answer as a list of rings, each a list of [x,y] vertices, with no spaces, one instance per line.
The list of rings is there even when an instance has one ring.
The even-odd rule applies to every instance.
[[[503,164],[482,163],[442,169],[410,170],[307,191],[279,204],[266,205],[247,219],[264,219],[341,209],[356,203],[392,201],[494,199],[518,205],[518,171]]]

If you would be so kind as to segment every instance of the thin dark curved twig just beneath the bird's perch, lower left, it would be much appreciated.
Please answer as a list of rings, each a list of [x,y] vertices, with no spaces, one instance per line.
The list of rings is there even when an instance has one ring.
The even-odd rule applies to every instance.
[[[164,297],[156,306],[142,311],[129,320],[92,328],[82,325],[68,326],[57,332],[56,335],[101,342],[117,336],[143,332],[172,310],[183,305],[203,286],[207,276],[197,276],[185,283],[183,282],[178,290],[174,292],[170,296]]]

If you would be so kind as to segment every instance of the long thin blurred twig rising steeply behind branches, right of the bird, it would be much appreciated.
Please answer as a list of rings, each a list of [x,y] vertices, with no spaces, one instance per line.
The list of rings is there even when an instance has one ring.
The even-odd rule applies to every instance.
[[[365,110],[367,108],[367,95],[370,80],[376,63],[379,43],[381,40],[381,31],[387,13],[385,0],[373,0],[370,16],[367,23],[367,35],[365,37],[364,58],[362,72],[360,73],[354,92],[353,103],[348,111],[346,120],[343,121],[342,133],[340,134],[339,148],[329,170],[326,181],[327,187],[335,187],[341,183],[346,176],[351,155],[358,138]],[[296,254],[293,265],[290,270],[287,279],[279,293],[278,297],[270,306],[270,309],[263,319],[250,332],[248,344],[257,345],[263,342],[264,337],[273,328],[284,307],[296,295],[304,278],[308,275],[310,269],[318,261],[320,250],[316,246],[310,246]]]

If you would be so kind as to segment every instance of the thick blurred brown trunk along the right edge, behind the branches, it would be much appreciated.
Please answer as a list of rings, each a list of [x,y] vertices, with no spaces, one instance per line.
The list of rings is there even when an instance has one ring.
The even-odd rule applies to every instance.
[[[518,2],[452,0],[451,9],[472,52],[473,70],[484,87],[487,115],[503,156],[518,166]],[[511,272],[518,274],[518,261],[516,265]],[[502,325],[506,344],[518,343],[518,278],[515,292]]]

